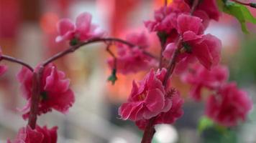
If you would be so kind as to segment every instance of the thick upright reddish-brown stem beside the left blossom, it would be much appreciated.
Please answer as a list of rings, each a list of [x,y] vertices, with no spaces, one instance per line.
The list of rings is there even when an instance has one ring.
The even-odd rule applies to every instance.
[[[41,87],[41,78],[42,71],[44,70],[44,66],[40,66],[39,71],[33,73],[32,79],[32,99],[29,111],[29,127],[35,129],[37,123],[37,113],[38,113],[38,104],[40,102],[40,87]]]

